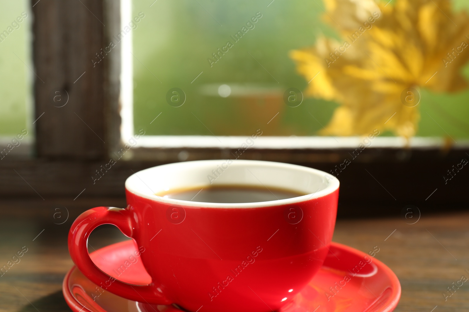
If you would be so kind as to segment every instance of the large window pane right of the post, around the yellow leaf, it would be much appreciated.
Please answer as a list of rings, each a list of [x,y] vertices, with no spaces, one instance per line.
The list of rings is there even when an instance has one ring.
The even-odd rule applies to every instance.
[[[458,0],[451,9],[458,14],[466,7]],[[309,81],[291,55],[318,49],[321,36],[346,40],[323,9],[328,10],[320,0],[133,0],[133,16],[143,16],[132,30],[134,55],[129,56],[134,66],[134,128],[144,128],[147,135],[250,135],[258,128],[264,135],[328,135],[324,127],[341,103],[308,95]],[[342,26],[344,14],[337,21]],[[435,26],[431,19],[427,23]],[[407,34],[403,36],[405,40]],[[367,33],[360,40],[372,37]],[[461,36],[463,40],[469,43]],[[448,52],[452,48],[456,46],[448,45]],[[435,62],[443,64],[442,56]],[[468,80],[466,63],[458,66]],[[318,71],[318,80],[323,79],[320,75]],[[346,83],[354,87],[356,81]],[[467,88],[440,92],[422,83],[417,89],[416,136],[469,138]],[[288,102],[288,96],[299,99],[299,91],[304,99],[294,107],[297,102]],[[396,135],[386,130],[386,119],[381,133]]]

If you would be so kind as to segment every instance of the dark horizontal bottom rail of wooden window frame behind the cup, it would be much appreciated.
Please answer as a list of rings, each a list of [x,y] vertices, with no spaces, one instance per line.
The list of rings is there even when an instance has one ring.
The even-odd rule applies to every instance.
[[[132,149],[128,153],[133,152]],[[163,153],[164,154],[164,153]],[[219,159],[223,159],[219,156]],[[113,156],[116,163],[109,169],[109,158],[94,161],[5,158],[0,161],[1,198],[55,198],[68,196],[124,196],[125,180],[134,172],[158,166],[165,161],[124,160]],[[210,159],[210,158],[207,158]],[[226,158],[225,158],[226,159]],[[256,159],[254,157],[243,159]],[[263,159],[264,158],[260,158]],[[188,159],[192,160],[192,159]],[[340,215],[376,216],[395,212],[407,204],[421,209],[437,210],[467,207],[468,171],[462,171],[445,184],[443,175],[455,162],[413,160],[408,163],[353,163],[338,176],[340,180]],[[456,162],[457,163],[457,162]],[[295,163],[330,172],[334,163]],[[105,169],[107,167],[109,170]],[[99,175],[98,175],[99,171]],[[101,178],[99,178],[101,176]],[[99,178],[95,181],[93,179]],[[378,205],[379,209],[375,209]],[[351,209],[356,206],[358,209]],[[364,208],[372,208],[372,211]]]

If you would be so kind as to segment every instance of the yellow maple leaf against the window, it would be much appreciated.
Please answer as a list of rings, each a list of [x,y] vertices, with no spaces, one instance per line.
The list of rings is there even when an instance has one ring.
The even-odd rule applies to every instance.
[[[419,88],[467,87],[469,18],[448,0],[324,0],[324,21],[341,40],[290,52],[310,81],[306,94],[340,106],[322,134],[367,135],[374,129],[409,138],[420,118]],[[314,79],[313,79],[314,78]]]

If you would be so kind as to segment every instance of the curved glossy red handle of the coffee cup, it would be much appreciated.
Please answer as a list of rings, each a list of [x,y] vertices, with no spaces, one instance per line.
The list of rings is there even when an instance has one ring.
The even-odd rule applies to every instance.
[[[96,207],[86,210],[76,218],[70,232],[68,232],[68,251],[78,269],[91,282],[97,285],[101,284],[103,289],[118,296],[151,304],[171,304],[172,302],[163,294],[164,287],[161,284],[155,283],[155,281],[145,286],[124,283],[101,271],[91,261],[87,248],[88,237],[98,225],[103,224],[115,225],[125,236],[132,238],[134,229],[129,210],[111,207]]]

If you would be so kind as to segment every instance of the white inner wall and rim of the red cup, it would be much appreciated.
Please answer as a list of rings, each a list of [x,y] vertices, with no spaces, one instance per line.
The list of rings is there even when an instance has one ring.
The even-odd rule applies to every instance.
[[[285,189],[307,195],[257,203],[204,203],[157,196],[178,189],[242,185]],[[332,193],[339,180],[332,174],[303,166],[261,160],[196,160],[144,169],[125,181],[125,188],[151,200],[191,207],[256,208],[299,203]]]

